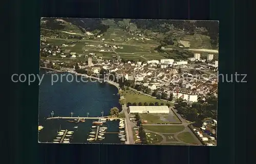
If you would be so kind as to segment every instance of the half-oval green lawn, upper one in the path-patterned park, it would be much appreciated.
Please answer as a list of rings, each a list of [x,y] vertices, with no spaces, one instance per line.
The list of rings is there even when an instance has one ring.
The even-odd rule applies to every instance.
[[[144,129],[158,132],[158,133],[177,133],[185,129],[183,125],[156,125],[156,126],[150,126],[150,125],[143,125]]]

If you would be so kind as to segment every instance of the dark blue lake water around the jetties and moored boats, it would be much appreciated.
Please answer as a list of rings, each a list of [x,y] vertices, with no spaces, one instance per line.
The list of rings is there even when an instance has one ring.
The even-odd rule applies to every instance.
[[[46,74],[45,69],[40,70],[44,78],[39,86],[39,125],[43,126],[38,134],[39,142],[53,142],[57,131],[74,131],[70,143],[88,143],[87,138],[92,127],[92,122],[97,120],[86,120],[84,123],[69,123],[67,120],[46,120],[51,116],[73,116],[98,117],[109,115],[110,109],[118,107],[118,89],[108,83],[99,82],[68,82],[66,76],[60,81],[61,74],[58,74],[59,81],[51,85],[52,74]],[[65,73],[66,74],[66,73]],[[67,75],[67,74],[66,74]],[[75,79],[75,75],[74,79]],[[56,75],[54,75],[56,79]],[[79,79],[79,78],[78,78]],[[119,121],[107,121],[103,126],[108,127],[106,132],[117,132]],[[77,126],[78,128],[74,128]],[[105,139],[97,143],[120,144],[117,134],[105,134]]]

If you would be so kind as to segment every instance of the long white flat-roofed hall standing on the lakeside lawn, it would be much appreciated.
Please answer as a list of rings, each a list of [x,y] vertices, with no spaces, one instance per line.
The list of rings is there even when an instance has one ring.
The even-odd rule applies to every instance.
[[[130,113],[169,113],[168,106],[129,106]]]

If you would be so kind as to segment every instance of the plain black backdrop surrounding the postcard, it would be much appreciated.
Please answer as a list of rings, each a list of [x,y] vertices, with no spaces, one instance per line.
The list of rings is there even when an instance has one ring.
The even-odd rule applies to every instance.
[[[217,147],[52,145],[37,144],[37,83],[28,86],[10,80],[14,73],[39,73],[42,16],[220,20],[219,73],[246,74],[247,47],[253,47],[245,41],[248,16],[241,11],[246,7],[234,0],[14,0],[2,5],[8,13],[3,15],[7,24],[2,24],[5,31],[1,31],[6,44],[2,44],[2,63],[6,64],[2,71],[7,75],[1,95],[7,105],[2,105],[5,134],[0,163],[253,163],[246,149],[255,142],[246,139],[249,128],[245,126],[252,119],[241,112],[252,109],[248,84],[219,84]]]

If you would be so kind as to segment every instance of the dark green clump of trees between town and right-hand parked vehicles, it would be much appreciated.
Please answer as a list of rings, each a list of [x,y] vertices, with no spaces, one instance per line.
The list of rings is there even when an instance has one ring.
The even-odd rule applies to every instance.
[[[182,99],[176,100],[175,108],[189,121],[196,122],[197,126],[202,126],[202,120],[206,118],[217,119],[217,98],[209,95],[205,100],[199,98],[198,102],[189,105]]]

